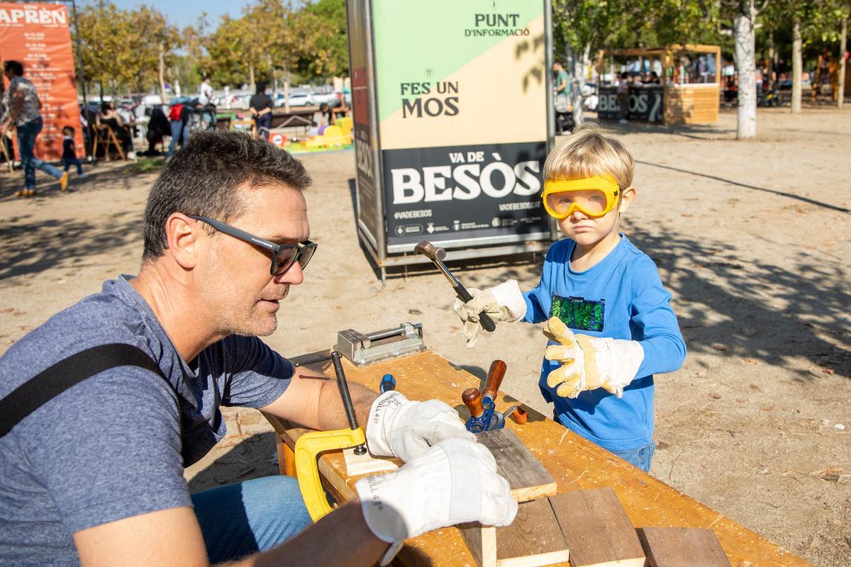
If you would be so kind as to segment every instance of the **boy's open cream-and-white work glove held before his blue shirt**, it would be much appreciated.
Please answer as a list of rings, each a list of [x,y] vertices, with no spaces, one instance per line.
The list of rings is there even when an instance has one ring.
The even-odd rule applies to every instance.
[[[575,335],[558,317],[546,322],[544,334],[558,343],[546,348],[544,358],[561,365],[546,377],[546,385],[556,388],[562,398],[575,398],[594,388],[620,398],[644,360],[644,349],[637,341]]]

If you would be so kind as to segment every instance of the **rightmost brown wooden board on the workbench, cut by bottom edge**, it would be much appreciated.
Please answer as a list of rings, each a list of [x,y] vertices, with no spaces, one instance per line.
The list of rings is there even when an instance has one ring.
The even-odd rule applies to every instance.
[[[712,530],[697,528],[642,528],[638,538],[650,567],[730,567]]]

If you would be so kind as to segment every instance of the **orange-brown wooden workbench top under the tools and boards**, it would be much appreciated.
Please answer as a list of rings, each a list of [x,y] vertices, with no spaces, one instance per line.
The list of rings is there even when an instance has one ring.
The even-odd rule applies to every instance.
[[[455,407],[463,419],[469,417],[469,414],[460,401],[461,392],[470,386],[481,386],[477,377],[430,351],[361,368],[351,365],[348,360],[343,360],[343,364],[350,383],[362,383],[377,391],[380,377],[390,372],[396,377],[397,390],[408,399],[443,400]],[[334,377],[334,369],[329,362],[310,368],[323,376]],[[508,371],[511,372],[511,368]],[[497,409],[505,410],[513,403],[517,403],[517,400],[500,392]],[[643,473],[612,453],[568,431],[561,424],[531,408],[526,409],[529,412],[528,422],[517,425],[508,420],[505,427],[514,429],[556,479],[559,493],[611,486],[635,527],[709,528],[717,535],[733,567],[751,564],[760,567],[808,565],[802,558],[774,542]],[[290,448],[304,432],[303,429],[291,428],[275,417],[267,417],[280,434],[279,440],[283,440]],[[280,452],[283,469],[289,451]],[[341,451],[324,454],[319,459],[319,473],[323,477],[323,484],[338,500],[355,496],[352,486],[360,477],[346,476]],[[459,531],[454,528],[436,530],[406,541],[397,559],[406,565],[476,565]],[[567,563],[560,565],[568,567]]]

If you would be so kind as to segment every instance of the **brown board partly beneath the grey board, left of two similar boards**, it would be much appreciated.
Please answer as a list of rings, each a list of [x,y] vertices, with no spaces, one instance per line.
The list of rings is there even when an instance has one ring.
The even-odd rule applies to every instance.
[[[496,529],[496,567],[537,567],[568,561],[569,556],[546,498],[523,502],[511,525]]]

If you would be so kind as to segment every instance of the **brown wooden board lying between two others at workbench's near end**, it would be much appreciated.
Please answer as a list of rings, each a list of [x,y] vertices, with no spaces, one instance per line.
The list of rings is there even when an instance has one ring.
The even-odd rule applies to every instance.
[[[574,490],[550,496],[570,548],[571,567],[644,567],[644,550],[614,490]]]

